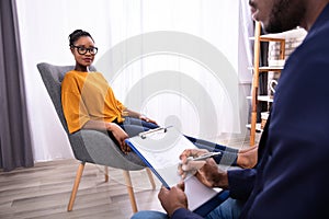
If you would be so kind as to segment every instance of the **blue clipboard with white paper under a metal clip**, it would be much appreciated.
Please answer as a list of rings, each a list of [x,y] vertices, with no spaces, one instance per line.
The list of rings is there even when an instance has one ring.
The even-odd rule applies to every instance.
[[[125,141],[169,189],[181,181],[178,174],[179,155],[185,149],[196,148],[173,126],[150,129]],[[188,176],[184,183],[190,210],[197,209],[222,191],[203,185],[194,175]]]

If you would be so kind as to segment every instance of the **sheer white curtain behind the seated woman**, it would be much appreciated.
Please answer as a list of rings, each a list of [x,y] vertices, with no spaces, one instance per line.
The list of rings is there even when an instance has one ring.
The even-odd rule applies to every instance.
[[[94,65],[129,108],[207,140],[247,135],[247,1],[16,2],[36,161],[72,157],[36,64],[73,65],[68,35],[76,28],[93,36]]]

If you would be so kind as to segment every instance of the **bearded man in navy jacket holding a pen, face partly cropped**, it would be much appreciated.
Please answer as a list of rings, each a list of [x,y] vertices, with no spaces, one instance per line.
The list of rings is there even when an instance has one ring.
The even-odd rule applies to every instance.
[[[250,0],[252,18],[268,33],[302,26],[308,34],[281,73],[252,170],[218,170],[207,159],[196,176],[247,198],[241,218],[329,218],[329,4],[328,0]],[[197,151],[185,151],[186,158]],[[191,165],[190,165],[191,166]],[[161,188],[172,219],[200,218],[186,209],[183,184]],[[218,217],[219,218],[219,217]]]

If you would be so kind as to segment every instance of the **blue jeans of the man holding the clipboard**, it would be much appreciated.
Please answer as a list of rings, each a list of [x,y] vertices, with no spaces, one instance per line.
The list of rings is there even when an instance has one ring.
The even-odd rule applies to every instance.
[[[245,201],[227,198],[217,208],[211,211],[206,219],[236,219],[239,218]],[[169,219],[168,215],[155,210],[141,210],[133,215],[132,219]]]

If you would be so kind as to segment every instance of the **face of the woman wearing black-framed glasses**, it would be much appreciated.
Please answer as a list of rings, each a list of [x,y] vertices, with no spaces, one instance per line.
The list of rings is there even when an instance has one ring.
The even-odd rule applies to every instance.
[[[71,53],[75,56],[77,66],[86,68],[92,65],[97,48],[89,36],[81,36],[71,47]]]

